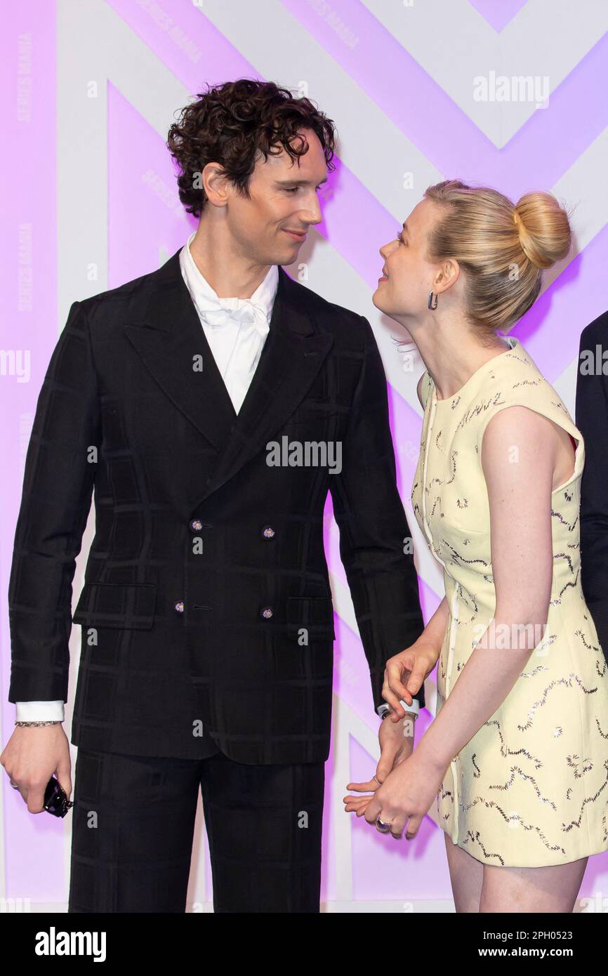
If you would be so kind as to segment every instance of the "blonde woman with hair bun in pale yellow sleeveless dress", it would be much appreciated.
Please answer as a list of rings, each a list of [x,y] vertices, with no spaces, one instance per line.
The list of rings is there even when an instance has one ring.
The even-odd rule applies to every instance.
[[[525,348],[498,334],[570,246],[551,194],[513,206],[446,181],[380,249],[374,305],[426,366],[412,503],[445,596],[383,689],[399,721],[438,662],[436,717],[384,780],[348,784],[372,796],[345,803],[412,838],[436,797],[457,912],[572,912],[588,856],[608,849],[608,671],[581,589],[585,444]]]

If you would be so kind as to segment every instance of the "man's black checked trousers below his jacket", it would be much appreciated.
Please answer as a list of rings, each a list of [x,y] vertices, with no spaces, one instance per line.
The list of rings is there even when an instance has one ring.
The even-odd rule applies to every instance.
[[[67,911],[184,912],[200,786],[215,912],[318,912],[324,766],[79,749]]]

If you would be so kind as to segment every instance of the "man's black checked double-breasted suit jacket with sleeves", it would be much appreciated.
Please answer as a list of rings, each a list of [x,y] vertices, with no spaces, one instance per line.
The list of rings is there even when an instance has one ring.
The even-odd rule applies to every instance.
[[[328,489],[375,706],[386,659],[424,630],[382,360],[367,319],[279,267],[237,415],[179,254],[70,308],[26,457],[9,700],[66,699],[73,620],[74,745],[196,758],[211,736],[239,762],[324,760]],[[283,437],[340,441],[342,471],[269,466],[266,444]],[[71,617],[94,487],[95,538]]]

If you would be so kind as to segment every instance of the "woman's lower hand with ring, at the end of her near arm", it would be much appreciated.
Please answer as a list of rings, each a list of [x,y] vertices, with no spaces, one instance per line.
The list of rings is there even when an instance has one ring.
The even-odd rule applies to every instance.
[[[368,824],[376,824],[380,818],[389,826],[383,830],[376,824],[376,829],[381,834],[392,834],[396,840],[407,825],[405,836],[411,840],[418,834],[423,817],[439,792],[446,768],[433,763],[420,748],[412,752],[395,766],[373,796],[366,797],[362,813]],[[345,801],[358,802],[360,797],[346,796]],[[357,816],[360,816],[358,809]]]

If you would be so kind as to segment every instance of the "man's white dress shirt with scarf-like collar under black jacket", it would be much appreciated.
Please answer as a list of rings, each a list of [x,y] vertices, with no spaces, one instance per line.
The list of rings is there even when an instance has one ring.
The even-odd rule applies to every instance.
[[[236,413],[241,409],[269,331],[279,269],[272,264],[250,299],[220,299],[190,254],[190,234],[180,252],[182,277]],[[19,722],[63,721],[63,702],[17,702]]]

